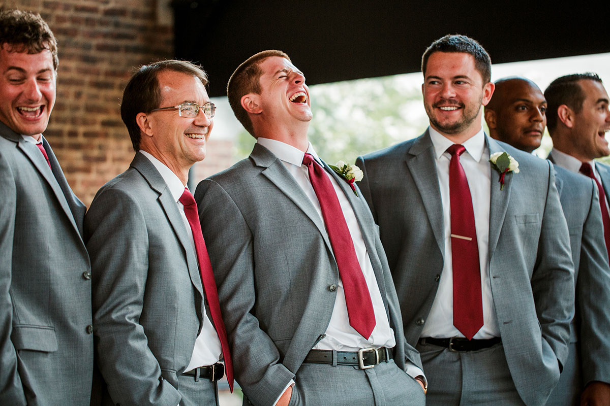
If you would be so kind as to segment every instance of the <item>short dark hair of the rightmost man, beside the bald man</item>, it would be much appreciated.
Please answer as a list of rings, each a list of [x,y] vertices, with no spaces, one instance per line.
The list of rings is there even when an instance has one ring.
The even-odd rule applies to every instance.
[[[583,102],[587,95],[578,83],[580,80],[594,80],[601,83],[601,78],[595,73],[576,73],[558,77],[544,91],[544,98],[547,99],[547,127],[551,136],[553,135],[551,131],[554,131],[558,124],[559,106],[565,104],[575,114],[583,110]]]

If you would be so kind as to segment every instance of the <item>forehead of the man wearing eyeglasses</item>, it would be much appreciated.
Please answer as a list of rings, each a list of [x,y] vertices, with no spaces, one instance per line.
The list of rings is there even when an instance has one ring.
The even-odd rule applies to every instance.
[[[176,71],[162,71],[157,74],[163,102],[178,105],[182,102],[203,103],[209,100],[206,86],[195,75]]]

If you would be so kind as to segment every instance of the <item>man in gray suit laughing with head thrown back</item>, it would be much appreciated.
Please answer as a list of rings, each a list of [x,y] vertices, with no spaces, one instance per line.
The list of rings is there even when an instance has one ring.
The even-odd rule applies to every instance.
[[[228,96],[257,143],[195,198],[244,404],[423,405],[367,204],[349,166],[337,175],[307,139],[303,73],[263,51]]]

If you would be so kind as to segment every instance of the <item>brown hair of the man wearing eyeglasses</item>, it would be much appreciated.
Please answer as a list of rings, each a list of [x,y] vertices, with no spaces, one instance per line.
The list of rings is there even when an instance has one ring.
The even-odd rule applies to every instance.
[[[203,68],[188,61],[172,59],[140,66],[127,82],[121,102],[121,119],[127,126],[129,138],[131,138],[135,151],[140,149],[141,138],[140,127],[135,120],[135,116],[138,113],[150,113],[160,107],[162,97],[157,77],[160,72],[165,71],[193,75],[201,80],[204,86],[207,86],[207,74]]]

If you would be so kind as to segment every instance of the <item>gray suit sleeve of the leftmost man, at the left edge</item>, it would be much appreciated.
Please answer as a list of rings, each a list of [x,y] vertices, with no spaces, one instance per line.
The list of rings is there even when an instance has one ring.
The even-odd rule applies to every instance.
[[[17,351],[10,339],[13,303],[10,296],[13,234],[17,206],[15,177],[0,153],[0,404],[26,405],[18,373]]]

